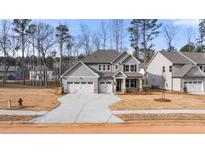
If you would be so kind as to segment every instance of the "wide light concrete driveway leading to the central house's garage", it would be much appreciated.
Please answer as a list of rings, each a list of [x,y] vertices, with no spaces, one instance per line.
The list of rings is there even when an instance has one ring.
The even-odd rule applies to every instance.
[[[120,98],[110,94],[68,94],[58,99],[56,109],[31,120],[32,123],[120,123],[109,105]]]

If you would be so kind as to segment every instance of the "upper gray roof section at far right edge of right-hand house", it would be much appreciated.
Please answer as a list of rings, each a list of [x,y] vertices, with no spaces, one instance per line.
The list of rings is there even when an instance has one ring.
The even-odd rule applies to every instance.
[[[181,54],[194,61],[196,64],[205,64],[205,53],[181,52]]]

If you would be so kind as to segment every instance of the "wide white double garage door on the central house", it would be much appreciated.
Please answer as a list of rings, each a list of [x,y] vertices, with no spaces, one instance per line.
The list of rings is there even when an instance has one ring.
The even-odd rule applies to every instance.
[[[68,93],[71,94],[85,94],[93,93],[93,82],[68,82]]]

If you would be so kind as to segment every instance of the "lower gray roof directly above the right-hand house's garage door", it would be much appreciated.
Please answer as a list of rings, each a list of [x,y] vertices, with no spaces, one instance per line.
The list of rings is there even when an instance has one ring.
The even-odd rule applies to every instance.
[[[205,77],[205,73],[198,66],[188,64],[173,72],[173,77]]]

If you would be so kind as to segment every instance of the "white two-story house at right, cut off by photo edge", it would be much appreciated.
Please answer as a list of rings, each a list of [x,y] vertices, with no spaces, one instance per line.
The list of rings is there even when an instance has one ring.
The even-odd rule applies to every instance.
[[[158,52],[147,65],[148,85],[173,91],[205,91],[205,54]]]

